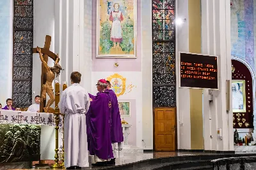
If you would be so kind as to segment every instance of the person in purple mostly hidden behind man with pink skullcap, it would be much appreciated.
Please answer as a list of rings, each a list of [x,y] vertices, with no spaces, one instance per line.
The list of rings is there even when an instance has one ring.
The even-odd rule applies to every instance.
[[[110,82],[107,81],[107,83],[109,95],[111,97],[111,142],[114,156],[117,157],[116,153],[122,150],[122,142],[124,141],[124,136],[121,124],[121,116],[118,107],[118,100],[115,92],[111,89]],[[115,164],[115,158],[111,159],[108,164]]]

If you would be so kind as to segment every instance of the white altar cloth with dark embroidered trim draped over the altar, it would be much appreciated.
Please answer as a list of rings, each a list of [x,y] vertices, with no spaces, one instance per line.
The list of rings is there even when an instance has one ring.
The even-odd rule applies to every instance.
[[[55,155],[55,119],[54,114],[44,112],[22,112],[0,110],[0,124],[41,125],[41,160],[54,160]],[[63,121],[59,124],[59,155],[62,151]],[[61,158],[60,158],[61,159]]]

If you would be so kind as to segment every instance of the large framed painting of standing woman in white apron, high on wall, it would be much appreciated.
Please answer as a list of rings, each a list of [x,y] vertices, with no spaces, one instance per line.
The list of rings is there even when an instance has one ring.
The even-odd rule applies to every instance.
[[[136,58],[136,0],[97,0],[97,58]]]

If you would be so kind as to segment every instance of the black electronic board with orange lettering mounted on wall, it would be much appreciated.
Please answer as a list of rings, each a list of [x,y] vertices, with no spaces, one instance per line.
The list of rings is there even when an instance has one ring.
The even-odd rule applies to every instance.
[[[218,57],[180,52],[180,88],[218,89]]]

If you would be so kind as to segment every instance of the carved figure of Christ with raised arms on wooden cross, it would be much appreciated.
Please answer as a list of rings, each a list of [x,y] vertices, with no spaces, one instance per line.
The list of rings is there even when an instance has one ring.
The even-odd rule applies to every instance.
[[[54,63],[54,66],[50,67],[44,61],[44,57],[43,57],[43,54],[41,52],[41,49],[39,47],[37,47],[36,50],[38,51],[40,59],[42,61],[42,64],[44,65],[44,68],[46,70],[46,82],[45,82],[45,84],[42,85],[41,100],[42,101],[46,100],[46,94],[50,97],[50,99],[48,100],[47,104],[44,107],[44,112],[48,112],[49,107],[55,101],[52,82],[55,79],[55,73],[56,73],[56,77],[58,77],[60,75],[60,71],[62,70],[62,68],[59,65],[60,58],[58,57],[58,54],[57,54],[57,58],[56,58],[56,61]]]

